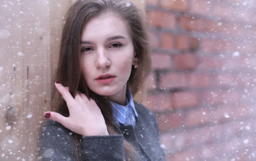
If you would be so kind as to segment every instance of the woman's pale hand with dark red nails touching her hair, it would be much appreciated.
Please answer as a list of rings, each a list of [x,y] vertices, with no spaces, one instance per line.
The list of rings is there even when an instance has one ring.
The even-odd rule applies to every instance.
[[[109,135],[105,119],[99,106],[92,98],[87,98],[81,92],[76,92],[75,98],[68,91],[68,87],[55,82],[55,86],[67,103],[69,117],[56,112],[45,112],[44,117],[57,121],[67,129],[83,136]]]

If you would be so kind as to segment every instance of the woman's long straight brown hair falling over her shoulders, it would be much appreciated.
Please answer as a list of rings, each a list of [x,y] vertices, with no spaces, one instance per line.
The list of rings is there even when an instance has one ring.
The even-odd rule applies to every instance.
[[[105,123],[110,135],[116,135],[115,124],[112,118],[112,109],[109,101],[101,95],[90,91],[81,75],[81,63],[79,44],[81,34],[87,22],[103,14],[111,12],[119,15],[126,23],[131,34],[134,50],[137,53],[139,66],[137,69],[132,66],[131,75],[127,85],[132,95],[135,95],[139,88],[143,87],[144,80],[150,71],[151,57],[147,36],[147,25],[144,13],[133,3],[125,0],[78,0],[67,11],[64,20],[64,26],[61,37],[61,46],[59,53],[58,66],[55,73],[55,80],[58,80],[63,86],[68,86],[73,97],[77,91],[83,92],[87,97],[93,98],[102,111]],[[54,89],[53,96],[57,94]],[[69,116],[66,102],[58,95],[56,111],[64,116]],[[55,101],[52,101],[52,103]],[[81,159],[81,135],[74,133],[74,141],[77,146],[77,155]],[[124,140],[126,160],[138,161],[138,155],[135,147]],[[79,159],[79,160],[80,160]]]

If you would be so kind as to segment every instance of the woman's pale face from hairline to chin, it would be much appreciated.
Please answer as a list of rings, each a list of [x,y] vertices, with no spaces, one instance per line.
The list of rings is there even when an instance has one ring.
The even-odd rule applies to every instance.
[[[91,19],[79,49],[82,74],[90,90],[104,96],[125,95],[131,66],[137,61],[125,21],[111,13]]]

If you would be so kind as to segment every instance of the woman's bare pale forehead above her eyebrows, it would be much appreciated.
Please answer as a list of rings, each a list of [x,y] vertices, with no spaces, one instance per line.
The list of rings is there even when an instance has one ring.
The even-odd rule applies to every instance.
[[[131,38],[127,23],[116,14],[106,13],[88,21],[83,29],[81,39],[103,40],[113,35],[122,35]]]

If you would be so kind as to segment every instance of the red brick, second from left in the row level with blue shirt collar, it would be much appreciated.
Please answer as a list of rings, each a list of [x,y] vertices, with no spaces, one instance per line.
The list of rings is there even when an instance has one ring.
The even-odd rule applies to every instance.
[[[198,106],[198,94],[195,92],[176,92],[172,94],[173,108],[186,108]]]

